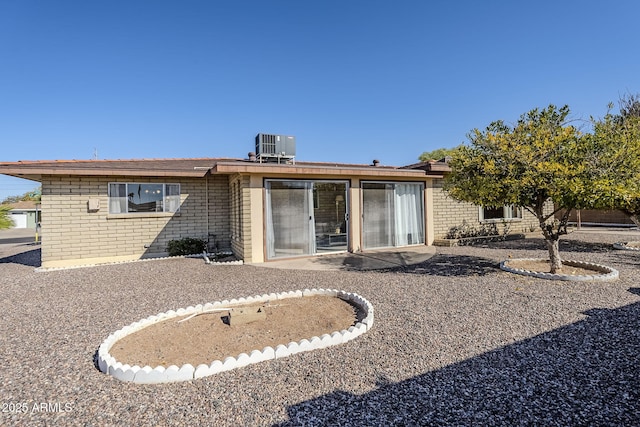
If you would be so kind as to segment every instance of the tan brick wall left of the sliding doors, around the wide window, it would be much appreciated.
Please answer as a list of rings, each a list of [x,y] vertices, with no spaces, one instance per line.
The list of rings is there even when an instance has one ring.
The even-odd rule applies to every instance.
[[[109,182],[178,183],[180,213],[110,215]],[[42,265],[88,260],[136,259],[164,255],[169,240],[217,234],[229,246],[228,177],[209,178],[209,218],[203,178],[78,177],[42,178]],[[100,208],[89,211],[90,199]]]

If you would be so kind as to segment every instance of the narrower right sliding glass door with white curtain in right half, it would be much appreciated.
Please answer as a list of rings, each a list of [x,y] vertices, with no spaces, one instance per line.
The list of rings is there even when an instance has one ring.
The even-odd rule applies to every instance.
[[[362,183],[365,249],[424,244],[422,183]]]

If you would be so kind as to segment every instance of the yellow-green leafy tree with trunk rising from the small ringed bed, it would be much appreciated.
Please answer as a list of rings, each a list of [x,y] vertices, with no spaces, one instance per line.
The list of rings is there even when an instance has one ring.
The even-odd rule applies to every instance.
[[[516,205],[536,216],[549,251],[550,271],[562,270],[560,236],[575,208],[594,207],[584,136],[567,123],[569,107],[534,109],[513,126],[491,123],[468,135],[449,165],[445,190],[486,207]],[[593,142],[593,141],[591,141]],[[552,212],[545,204],[553,202]],[[555,215],[563,212],[559,220]]]

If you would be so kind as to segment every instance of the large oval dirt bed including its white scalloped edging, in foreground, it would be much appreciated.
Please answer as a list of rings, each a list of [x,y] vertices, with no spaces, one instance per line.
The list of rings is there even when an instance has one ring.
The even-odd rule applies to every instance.
[[[230,313],[240,311],[260,315],[247,323],[242,316],[232,321]],[[217,301],[170,310],[120,329],[100,345],[98,366],[122,381],[186,381],[342,344],[372,324],[369,302],[337,290]]]

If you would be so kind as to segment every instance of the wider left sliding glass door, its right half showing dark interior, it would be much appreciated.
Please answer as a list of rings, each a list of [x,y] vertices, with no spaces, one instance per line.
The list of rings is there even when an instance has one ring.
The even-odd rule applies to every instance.
[[[347,250],[347,183],[266,180],[267,259]]]

